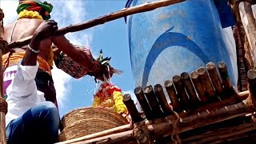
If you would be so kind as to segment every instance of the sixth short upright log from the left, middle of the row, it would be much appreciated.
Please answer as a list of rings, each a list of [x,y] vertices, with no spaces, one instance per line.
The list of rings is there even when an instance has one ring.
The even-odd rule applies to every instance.
[[[182,84],[181,78],[178,75],[174,75],[173,77],[174,86],[177,90],[178,96],[180,98],[180,103],[182,110],[187,110],[190,108],[190,100],[186,94],[186,91],[184,89],[184,86]]]

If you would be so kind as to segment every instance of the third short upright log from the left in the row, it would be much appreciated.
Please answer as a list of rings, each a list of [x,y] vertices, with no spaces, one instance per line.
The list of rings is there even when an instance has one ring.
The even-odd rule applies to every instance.
[[[154,94],[154,90],[152,86],[146,86],[143,90],[144,94],[146,95],[146,99],[150,104],[152,114],[154,119],[162,118],[162,110],[160,109],[160,104],[158,102],[157,97]]]

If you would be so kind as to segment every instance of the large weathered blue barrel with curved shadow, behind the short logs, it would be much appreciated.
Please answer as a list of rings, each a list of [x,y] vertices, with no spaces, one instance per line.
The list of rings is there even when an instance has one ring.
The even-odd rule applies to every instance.
[[[126,6],[145,2],[129,0]],[[220,61],[236,84],[214,0],[187,0],[130,15],[126,23],[135,86],[163,84],[175,74]]]

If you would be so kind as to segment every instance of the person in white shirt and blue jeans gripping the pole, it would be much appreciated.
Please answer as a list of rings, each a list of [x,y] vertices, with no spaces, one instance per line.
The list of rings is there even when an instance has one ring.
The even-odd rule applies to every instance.
[[[40,47],[42,38],[57,29],[56,22],[46,22],[35,31],[24,57],[18,62],[13,81],[6,90],[8,144],[51,144],[58,140],[58,109],[54,103],[46,102],[34,81],[38,71],[38,50],[50,49]]]

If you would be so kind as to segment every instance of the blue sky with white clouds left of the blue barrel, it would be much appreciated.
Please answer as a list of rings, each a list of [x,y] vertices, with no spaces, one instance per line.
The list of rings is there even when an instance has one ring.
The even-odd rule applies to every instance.
[[[126,0],[48,0],[47,2],[54,6],[51,19],[58,22],[59,28],[121,10],[126,5]],[[0,1],[0,7],[5,14],[4,25],[15,21],[17,6],[18,0]],[[120,87],[124,94],[132,94],[134,98],[134,80],[124,18],[66,34],[66,38],[73,44],[89,46],[95,58],[98,57],[100,50],[103,51],[104,57],[111,57],[110,65],[124,71],[122,75],[114,75],[111,82]],[[52,74],[61,117],[70,110],[91,106],[94,90],[98,87],[94,78],[85,76],[74,79],[56,67]]]

